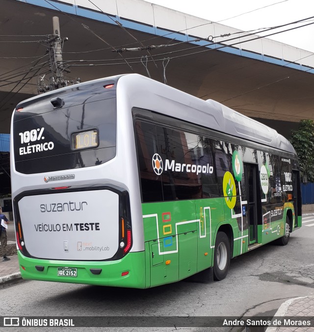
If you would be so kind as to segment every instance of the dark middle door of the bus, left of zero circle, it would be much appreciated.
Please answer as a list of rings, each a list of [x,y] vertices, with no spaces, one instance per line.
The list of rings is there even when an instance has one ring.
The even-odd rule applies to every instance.
[[[247,199],[247,220],[249,226],[249,245],[257,242],[257,181],[258,165],[243,164]],[[259,202],[259,204],[261,204]]]

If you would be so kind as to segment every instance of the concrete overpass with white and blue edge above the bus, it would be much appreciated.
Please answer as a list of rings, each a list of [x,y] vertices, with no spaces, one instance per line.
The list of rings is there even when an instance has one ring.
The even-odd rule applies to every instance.
[[[70,80],[132,71],[147,76],[148,70],[163,81],[169,58],[167,84],[222,102],[285,136],[301,119],[314,119],[311,52],[142,0],[0,0],[0,8],[2,133],[9,133],[15,105],[37,94],[40,77],[50,77],[44,55],[53,16],[69,38],[63,60]],[[153,45],[168,46],[112,52]]]

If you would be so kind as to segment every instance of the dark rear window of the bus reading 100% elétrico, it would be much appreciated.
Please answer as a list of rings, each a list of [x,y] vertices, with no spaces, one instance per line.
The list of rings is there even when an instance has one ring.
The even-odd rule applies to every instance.
[[[75,102],[65,98],[59,109],[53,109],[50,98],[34,100],[21,112],[16,111],[13,118],[16,171],[34,174],[70,170],[100,165],[114,158],[116,98],[99,100],[95,94],[90,97],[82,102],[78,102],[79,98]]]

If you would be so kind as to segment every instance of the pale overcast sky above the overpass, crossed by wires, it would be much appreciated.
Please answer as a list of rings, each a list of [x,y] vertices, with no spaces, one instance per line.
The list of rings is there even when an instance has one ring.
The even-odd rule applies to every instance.
[[[302,25],[312,23],[310,26],[304,26],[291,31],[278,33],[267,38],[271,38],[306,51],[314,52],[314,0],[144,1],[153,2],[164,7],[175,9],[213,22],[224,20],[219,23],[244,31],[279,26],[313,16],[313,19],[302,23]],[[231,17],[237,15],[240,16],[231,19]],[[285,29],[300,25],[301,24],[289,25],[286,26]],[[273,30],[272,32],[277,31],[279,30]]]

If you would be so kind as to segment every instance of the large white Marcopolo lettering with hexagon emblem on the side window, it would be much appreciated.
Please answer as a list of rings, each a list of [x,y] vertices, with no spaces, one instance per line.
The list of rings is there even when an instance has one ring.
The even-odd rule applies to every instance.
[[[163,161],[158,153],[155,153],[152,158],[153,170],[157,175],[160,175],[163,172]],[[180,162],[175,162],[174,160],[165,159],[165,171],[171,170],[173,172],[186,172],[186,173],[200,173],[212,174],[213,167],[206,165],[192,165],[192,164],[183,164]]]

